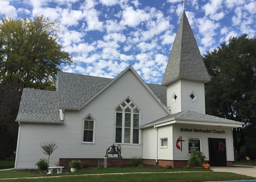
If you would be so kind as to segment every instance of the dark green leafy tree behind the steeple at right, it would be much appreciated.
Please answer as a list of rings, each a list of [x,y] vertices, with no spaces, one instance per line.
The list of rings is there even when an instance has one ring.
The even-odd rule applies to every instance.
[[[211,76],[205,85],[206,113],[245,123],[233,129],[239,159],[241,147],[256,131],[256,39],[230,37],[203,59]]]

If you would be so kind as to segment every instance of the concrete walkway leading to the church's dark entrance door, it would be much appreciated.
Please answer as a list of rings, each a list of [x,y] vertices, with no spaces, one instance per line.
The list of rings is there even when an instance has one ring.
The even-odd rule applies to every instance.
[[[242,166],[242,167],[211,167],[216,172],[230,172],[236,174],[242,174],[256,178],[256,166]]]

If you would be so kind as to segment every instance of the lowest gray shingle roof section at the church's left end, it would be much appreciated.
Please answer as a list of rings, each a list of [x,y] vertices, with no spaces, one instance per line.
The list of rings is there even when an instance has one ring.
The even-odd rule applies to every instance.
[[[59,122],[58,92],[23,88],[16,120]]]

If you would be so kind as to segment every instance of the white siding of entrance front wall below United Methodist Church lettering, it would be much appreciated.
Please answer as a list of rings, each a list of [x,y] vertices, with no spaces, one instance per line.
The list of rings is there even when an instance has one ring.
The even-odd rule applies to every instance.
[[[225,134],[214,134],[214,133],[198,133],[198,132],[185,132],[180,131],[180,128],[197,128],[197,129],[211,129],[211,130],[224,130]],[[177,149],[176,141],[182,136],[182,151]],[[213,127],[213,126],[198,126],[198,125],[183,125],[183,124],[173,124],[173,160],[188,160],[188,137],[201,138],[202,152],[206,156],[206,160],[209,160],[209,149],[208,149],[208,138],[225,138],[226,139],[226,153],[227,161],[234,161],[234,151],[233,151],[233,138],[232,129],[224,127]],[[178,143],[180,145],[180,142]]]

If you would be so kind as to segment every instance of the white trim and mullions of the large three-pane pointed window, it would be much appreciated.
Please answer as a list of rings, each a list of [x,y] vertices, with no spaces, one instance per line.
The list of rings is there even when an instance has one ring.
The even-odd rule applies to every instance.
[[[127,99],[130,100],[129,103],[126,102]],[[126,106],[123,107],[123,106],[121,105],[122,103],[125,103]],[[134,105],[134,106],[133,106],[133,109],[130,108],[130,109],[131,109],[131,112],[125,112],[125,109],[126,109],[129,105],[131,105],[131,103],[133,103],[133,105]],[[122,112],[121,112],[121,111],[116,111],[116,109],[117,109],[119,106],[123,109]],[[114,108],[114,118],[115,118],[115,120],[114,120],[114,144],[117,144],[117,145],[118,145],[118,144],[120,144],[120,145],[140,145],[141,130],[140,130],[139,127],[136,128],[136,129],[139,129],[139,143],[133,143],[133,110],[134,110],[135,108],[137,108],[138,111],[139,111],[139,113],[134,113],[134,114],[139,114],[139,127],[140,127],[140,123],[141,123],[141,110],[140,110],[140,108],[135,104],[135,102],[133,102],[133,100],[132,100],[129,96],[128,96],[127,98],[125,98],[117,107]],[[117,142],[116,142],[116,113],[117,113],[117,112],[123,113],[123,114],[122,114],[122,143],[117,143]],[[124,129],[127,128],[127,127],[125,127],[125,113],[130,113],[130,114],[131,114],[130,143],[124,143]]]

